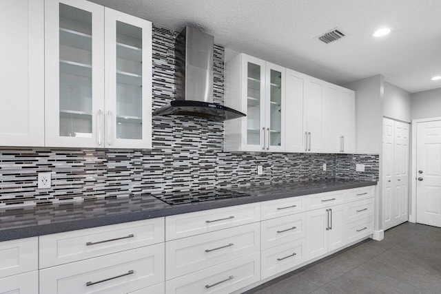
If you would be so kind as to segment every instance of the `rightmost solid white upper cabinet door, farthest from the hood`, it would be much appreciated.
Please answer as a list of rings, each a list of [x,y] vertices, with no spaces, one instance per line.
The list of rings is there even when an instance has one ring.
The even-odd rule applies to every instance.
[[[356,151],[356,93],[343,87],[338,92],[338,136],[340,152]]]

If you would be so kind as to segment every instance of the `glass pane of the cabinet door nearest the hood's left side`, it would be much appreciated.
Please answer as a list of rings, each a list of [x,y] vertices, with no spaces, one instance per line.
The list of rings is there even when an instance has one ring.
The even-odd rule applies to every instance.
[[[116,21],[116,138],[142,139],[142,29]]]

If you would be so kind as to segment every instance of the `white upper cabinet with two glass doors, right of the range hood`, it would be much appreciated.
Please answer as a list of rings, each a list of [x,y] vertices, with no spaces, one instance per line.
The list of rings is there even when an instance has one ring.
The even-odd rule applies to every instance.
[[[225,150],[283,151],[285,67],[239,54],[225,71],[225,105],[247,114],[225,122]]]

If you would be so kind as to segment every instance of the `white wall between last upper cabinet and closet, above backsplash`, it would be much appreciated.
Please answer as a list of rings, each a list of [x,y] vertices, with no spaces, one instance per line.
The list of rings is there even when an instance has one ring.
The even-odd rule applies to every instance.
[[[382,150],[383,82],[381,74],[343,85],[356,92],[356,148],[360,154]]]

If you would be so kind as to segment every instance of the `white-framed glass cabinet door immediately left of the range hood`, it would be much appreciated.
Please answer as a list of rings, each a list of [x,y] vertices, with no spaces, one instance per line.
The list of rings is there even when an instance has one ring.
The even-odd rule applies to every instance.
[[[107,147],[151,148],[152,24],[105,8]]]

